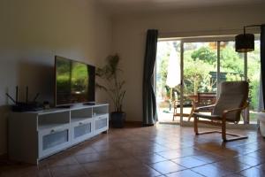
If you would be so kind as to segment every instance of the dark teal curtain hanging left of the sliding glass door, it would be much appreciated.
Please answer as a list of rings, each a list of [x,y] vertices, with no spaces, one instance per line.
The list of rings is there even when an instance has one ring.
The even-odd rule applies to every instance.
[[[157,121],[154,80],[153,80],[157,37],[158,37],[158,30],[148,29],[146,53],[144,58],[143,84],[142,84],[143,126],[153,126]]]

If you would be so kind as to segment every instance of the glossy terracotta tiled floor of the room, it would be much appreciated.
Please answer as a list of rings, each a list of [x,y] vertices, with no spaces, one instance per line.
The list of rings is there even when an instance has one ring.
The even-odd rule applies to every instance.
[[[177,125],[110,129],[39,166],[2,165],[0,176],[265,176],[264,139],[256,132],[233,132],[249,138],[223,143],[221,135],[195,136],[192,127]]]

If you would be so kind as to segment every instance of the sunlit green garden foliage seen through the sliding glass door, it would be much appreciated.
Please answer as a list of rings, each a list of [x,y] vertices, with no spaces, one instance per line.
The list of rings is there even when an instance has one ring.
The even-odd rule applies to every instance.
[[[217,52],[205,42],[203,45],[185,43],[184,52],[184,95],[195,95],[198,92],[216,92]],[[206,44],[206,45],[205,45]],[[168,60],[170,56],[170,42],[163,43],[159,47],[156,69],[156,93],[163,99],[170,96],[169,88],[166,86]],[[165,47],[168,46],[168,47]],[[161,51],[163,50],[163,51]],[[175,47],[179,52],[179,48]],[[258,90],[260,82],[260,57],[259,49],[248,54],[247,76],[250,84],[250,105],[251,109],[258,107]],[[233,42],[225,42],[220,51],[220,74],[221,81],[242,81],[244,80],[244,56],[234,50]],[[178,90],[178,87],[175,90]]]

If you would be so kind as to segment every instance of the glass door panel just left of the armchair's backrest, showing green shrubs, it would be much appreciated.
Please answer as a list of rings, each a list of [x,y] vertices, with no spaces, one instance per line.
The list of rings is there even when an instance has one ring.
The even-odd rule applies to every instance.
[[[183,48],[183,120],[190,121],[195,107],[216,101],[217,42],[184,42]]]

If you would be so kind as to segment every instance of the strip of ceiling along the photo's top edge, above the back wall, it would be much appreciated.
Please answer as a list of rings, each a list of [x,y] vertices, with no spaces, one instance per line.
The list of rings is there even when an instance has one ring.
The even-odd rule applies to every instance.
[[[200,7],[264,4],[264,0],[97,0],[108,12],[156,12]]]

